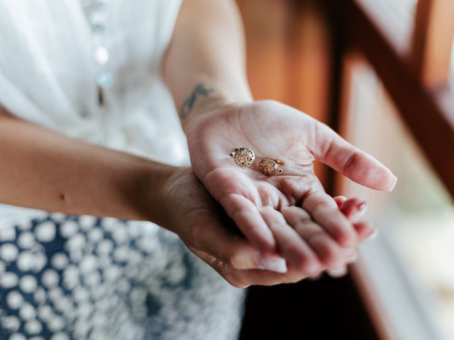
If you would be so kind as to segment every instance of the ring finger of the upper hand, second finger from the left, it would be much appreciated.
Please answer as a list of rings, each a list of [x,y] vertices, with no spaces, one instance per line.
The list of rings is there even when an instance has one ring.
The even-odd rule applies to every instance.
[[[279,253],[289,262],[289,269],[309,276],[321,270],[321,263],[314,251],[292,227],[287,225],[280,212],[272,207],[265,207],[261,213],[275,235]]]

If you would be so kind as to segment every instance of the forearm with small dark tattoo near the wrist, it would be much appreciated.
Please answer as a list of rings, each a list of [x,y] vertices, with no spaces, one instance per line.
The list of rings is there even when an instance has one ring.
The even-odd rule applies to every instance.
[[[183,1],[163,74],[183,127],[199,106],[252,100],[234,1]]]

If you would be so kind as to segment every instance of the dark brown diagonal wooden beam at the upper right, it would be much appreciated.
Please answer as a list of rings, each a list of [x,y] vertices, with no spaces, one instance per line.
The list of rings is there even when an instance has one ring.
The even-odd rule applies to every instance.
[[[454,91],[444,89],[443,102],[414,77],[408,60],[355,0],[334,1],[348,45],[358,48],[377,72],[433,169],[454,197]]]

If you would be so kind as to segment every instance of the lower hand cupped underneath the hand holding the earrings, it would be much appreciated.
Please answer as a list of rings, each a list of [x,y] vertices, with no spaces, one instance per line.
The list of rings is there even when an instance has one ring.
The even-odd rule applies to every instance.
[[[165,227],[177,232],[194,254],[236,287],[296,282],[327,269],[316,250],[311,249],[304,239],[295,237],[297,225],[292,225],[289,229],[275,230],[277,242],[283,249],[283,254],[279,255],[292,253],[292,248],[295,252],[292,261],[287,261],[288,270],[277,273],[277,266],[282,266],[282,260],[263,258],[258,249],[236,232],[235,227],[229,224],[231,220],[196,179],[192,169],[177,169],[162,186],[160,195],[165,207],[162,215],[167,216]],[[358,199],[336,198],[338,200],[342,202],[339,203],[341,211],[349,217],[360,212],[364,203]],[[297,215],[297,209],[301,210],[293,207],[289,215]],[[355,228],[358,239],[364,239],[373,232],[366,222],[356,223]],[[337,246],[331,246],[334,249],[329,248],[328,251],[336,252]],[[354,256],[353,249],[342,251],[343,254],[336,259],[336,268],[342,268],[348,258]],[[272,271],[266,270],[267,267]]]

